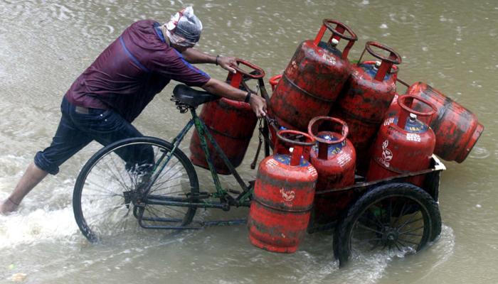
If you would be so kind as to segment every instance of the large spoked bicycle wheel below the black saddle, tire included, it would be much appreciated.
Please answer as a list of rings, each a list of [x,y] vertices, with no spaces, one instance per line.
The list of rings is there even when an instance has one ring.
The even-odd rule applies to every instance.
[[[171,143],[159,138],[127,138],[105,146],[88,160],[75,183],[73,210],[80,231],[89,241],[136,230],[137,218],[175,226],[192,221],[196,213],[193,205],[147,202],[185,203],[198,195],[194,166],[178,148],[164,169],[157,168],[172,149]],[[152,185],[150,180],[154,180]]]

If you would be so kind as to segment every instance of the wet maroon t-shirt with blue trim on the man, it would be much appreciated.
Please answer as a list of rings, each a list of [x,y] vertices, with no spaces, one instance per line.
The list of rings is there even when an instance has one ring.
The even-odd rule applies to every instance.
[[[206,84],[209,75],[171,48],[157,26],[143,20],[124,30],[71,85],[68,101],[113,109],[133,121],[170,80],[194,87]]]

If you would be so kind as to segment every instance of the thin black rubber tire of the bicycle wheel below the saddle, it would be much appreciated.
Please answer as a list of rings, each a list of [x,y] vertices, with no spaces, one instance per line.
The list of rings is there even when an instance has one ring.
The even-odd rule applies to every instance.
[[[99,241],[100,238],[97,237],[90,227],[87,225],[87,222],[85,221],[85,217],[83,214],[82,206],[81,206],[81,196],[82,192],[85,186],[85,181],[91,172],[92,168],[95,167],[99,161],[105,157],[107,154],[112,153],[115,151],[117,148],[123,148],[131,144],[136,144],[136,143],[143,143],[144,145],[151,145],[151,146],[158,146],[160,148],[166,149],[166,151],[171,152],[171,149],[173,149],[173,145],[167,141],[164,141],[159,138],[154,138],[154,137],[134,137],[134,138],[127,138],[123,139],[121,141],[116,141],[115,143],[111,143],[108,146],[105,146],[104,148],[101,148],[100,151],[97,151],[92,157],[88,160],[87,163],[83,166],[83,168],[80,170],[80,174],[78,175],[78,178],[75,182],[75,187],[73,190],[73,212],[75,215],[75,220],[76,223],[78,224],[78,227],[80,228],[80,231],[83,233],[83,235],[88,239],[90,242],[96,242]],[[176,148],[174,151],[174,157],[179,160],[183,168],[185,169],[187,175],[189,176],[189,182],[190,182],[190,193],[191,195],[198,195],[198,178],[197,178],[197,173],[196,170],[194,169],[194,165],[192,165],[191,161],[187,156],[179,149]],[[147,206],[147,205],[146,205]],[[189,224],[192,219],[194,218],[194,215],[196,214],[196,207],[189,207],[187,209],[187,212],[184,216],[183,221],[181,222],[181,225],[184,226],[186,224]]]

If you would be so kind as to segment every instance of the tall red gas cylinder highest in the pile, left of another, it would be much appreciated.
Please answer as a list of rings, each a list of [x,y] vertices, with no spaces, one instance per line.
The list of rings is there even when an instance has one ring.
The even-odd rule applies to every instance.
[[[327,29],[332,36],[325,43],[321,40]],[[348,41],[342,52],[337,49],[341,38]],[[272,114],[280,126],[306,131],[314,116],[329,113],[349,77],[347,56],[356,40],[356,34],[344,23],[324,19],[317,37],[299,45],[270,99]]]

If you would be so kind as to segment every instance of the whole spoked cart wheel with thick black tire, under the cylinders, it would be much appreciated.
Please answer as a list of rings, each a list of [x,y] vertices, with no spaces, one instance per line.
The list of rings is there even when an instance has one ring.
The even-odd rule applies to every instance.
[[[334,255],[344,266],[351,254],[415,253],[440,232],[438,204],[427,192],[408,183],[389,183],[366,192],[341,217]]]

